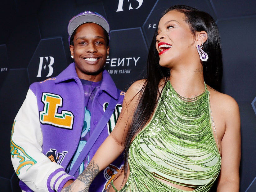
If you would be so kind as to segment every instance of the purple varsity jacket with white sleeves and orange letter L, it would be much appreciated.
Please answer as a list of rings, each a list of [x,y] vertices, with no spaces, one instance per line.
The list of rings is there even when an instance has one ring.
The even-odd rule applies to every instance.
[[[115,83],[104,70],[101,87],[92,101],[90,132],[104,114],[110,98],[119,100],[109,123],[90,150],[90,160],[115,126],[124,99],[124,92],[119,97],[118,94]],[[66,181],[75,179],[66,170],[80,141],[84,107],[83,86],[74,63],[57,77],[29,87],[11,136],[11,159],[22,190],[60,191]],[[122,164],[122,158],[115,160],[95,178],[89,191],[106,189]]]

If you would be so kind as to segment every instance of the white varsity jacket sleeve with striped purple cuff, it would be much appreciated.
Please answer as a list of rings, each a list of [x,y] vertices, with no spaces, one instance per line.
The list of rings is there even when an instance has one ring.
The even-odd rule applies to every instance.
[[[12,126],[11,161],[19,179],[31,190],[60,191],[74,177],[42,153],[42,144],[37,99],[29,89]]]

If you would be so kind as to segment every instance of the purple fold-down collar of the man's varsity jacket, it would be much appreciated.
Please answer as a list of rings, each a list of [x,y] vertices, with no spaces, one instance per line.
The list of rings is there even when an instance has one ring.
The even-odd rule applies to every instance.
[[[75,81],[80,81],[77,76],[75,70],[75,64],[71,63],[66,69],[64,69],[55,79],[55,83],[61,83],[66,80],[74,79]],[[105,91],[114,99],[118,99],[118,91],[115,86],[113,79],[111,78],[110,74],[104,69],[102,73],[102,83],[100,90]]]

